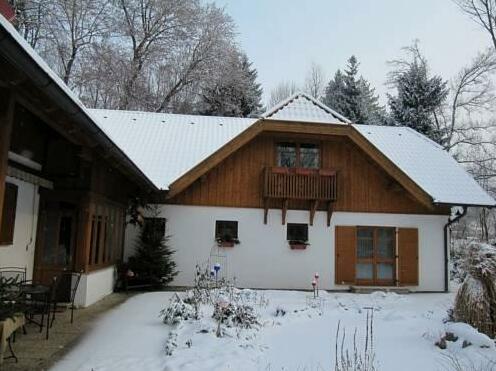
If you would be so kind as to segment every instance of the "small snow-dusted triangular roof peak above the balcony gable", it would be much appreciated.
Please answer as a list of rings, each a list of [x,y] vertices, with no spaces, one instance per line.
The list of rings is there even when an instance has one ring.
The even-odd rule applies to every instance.
[[[350,120],[305,93],[296,93],[262,115],[266,120],[349,124]]]

